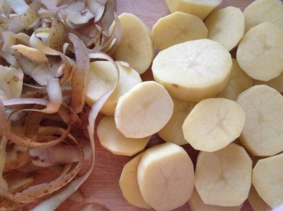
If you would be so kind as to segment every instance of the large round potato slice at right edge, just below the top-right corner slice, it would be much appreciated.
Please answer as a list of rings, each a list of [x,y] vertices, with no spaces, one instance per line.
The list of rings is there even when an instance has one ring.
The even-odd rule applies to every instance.
[[[250,77],[268,81],[283,71],[283,30],[266,22],[243,36],[237,49],[239,66]]]

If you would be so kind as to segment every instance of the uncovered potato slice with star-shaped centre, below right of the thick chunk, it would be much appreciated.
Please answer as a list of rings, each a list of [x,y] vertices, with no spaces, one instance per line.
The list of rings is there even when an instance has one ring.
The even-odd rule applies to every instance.
[[[209,98],[196,104],[182,125],[187,142],[194,149],[214,152],[241,134],[245,113],[234,101]]]

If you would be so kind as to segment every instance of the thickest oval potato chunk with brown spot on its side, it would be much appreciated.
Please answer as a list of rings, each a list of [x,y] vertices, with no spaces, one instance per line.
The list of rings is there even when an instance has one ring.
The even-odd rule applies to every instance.
[[[153,77],[173,98],[199,102],[215,97],[228,83],[232,58],[227,49],[210,39],[176,44],[153,60]]]

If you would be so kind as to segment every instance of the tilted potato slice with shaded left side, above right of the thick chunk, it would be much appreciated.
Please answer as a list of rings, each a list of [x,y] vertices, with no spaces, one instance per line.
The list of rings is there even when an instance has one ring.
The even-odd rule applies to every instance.
[[[205,19],[208,39],[219,42],[231,51],[237,46],[245,33],[245,17],[240,8],[229,6],[212,12]]]

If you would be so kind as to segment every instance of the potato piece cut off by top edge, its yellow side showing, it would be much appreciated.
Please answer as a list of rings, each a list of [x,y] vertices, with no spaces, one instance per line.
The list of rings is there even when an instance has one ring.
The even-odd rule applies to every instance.
[[[171,13],[186,12],[201,19],[205,19],[221,2],[222,0],[166,0]]]

